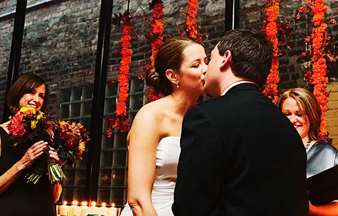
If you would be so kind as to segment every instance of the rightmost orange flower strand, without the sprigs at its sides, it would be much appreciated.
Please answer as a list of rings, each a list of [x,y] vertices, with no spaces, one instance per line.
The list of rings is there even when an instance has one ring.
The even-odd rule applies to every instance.
[[[327,92],[328,78],[327,62],[324,56],[325,39],[327,38],[327,23],[324,23],[324,14],[327,13],[327,6],[323,0],[315,0],[312,7],[312,21],[315,27],[312,28],[312,84],[314,85],[313,94],[319,102],[322,109],[321,124],[319,127],[319,136],[327,134],[327,124],[325,121],[324,112],[327,110],[327,102],[329,102],[329,92]]]

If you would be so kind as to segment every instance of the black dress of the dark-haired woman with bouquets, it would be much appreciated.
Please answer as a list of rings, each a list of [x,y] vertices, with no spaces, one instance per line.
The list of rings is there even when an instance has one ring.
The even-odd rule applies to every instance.
[[[22,158],[9,144],[9,136],[0,126],[1,156],[0,175],[6,173],[17,161]],[[26,183],[23,172],[14,183],[0,195],[0,215],[4,216],[53,216],[56,215],[53,205],[51,186],[47,175],[43,175],[38,183]]]

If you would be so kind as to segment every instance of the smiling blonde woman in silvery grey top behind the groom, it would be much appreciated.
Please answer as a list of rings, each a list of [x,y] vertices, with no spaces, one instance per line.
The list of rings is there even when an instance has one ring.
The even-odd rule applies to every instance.
[[[304,88],[292,88],[282,93],[277,106],[290,119],[302,138],[307,152],[307,178],[338,165],[338,151],[334,146],[318,141],[322,111],[315,95]],[[310,215],[338,215],[338,202],[312,205]]]

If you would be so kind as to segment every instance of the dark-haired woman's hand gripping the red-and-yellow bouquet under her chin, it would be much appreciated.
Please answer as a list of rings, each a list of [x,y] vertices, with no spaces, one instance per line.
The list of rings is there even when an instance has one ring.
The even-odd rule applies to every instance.
[[[32,163],[43,154],[43,150],[47,148],[47,145],[47,142],[38,141],[33,144],[33,146],[29,147],[25,155],[19,161],[19,168],[23,170],[31,166]]]

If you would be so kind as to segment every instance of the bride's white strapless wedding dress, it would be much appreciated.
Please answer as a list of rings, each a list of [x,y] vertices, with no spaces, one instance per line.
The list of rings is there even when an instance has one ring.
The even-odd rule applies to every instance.
[[[156,153],[156,171],[154,187],[152,188],[152,204],[159,216],[173,216],[171,205],[174,202],[174,188],[179,163],[180,138],[167,136],[159,141]],[[121,216],[132,216],[128,203]]]

